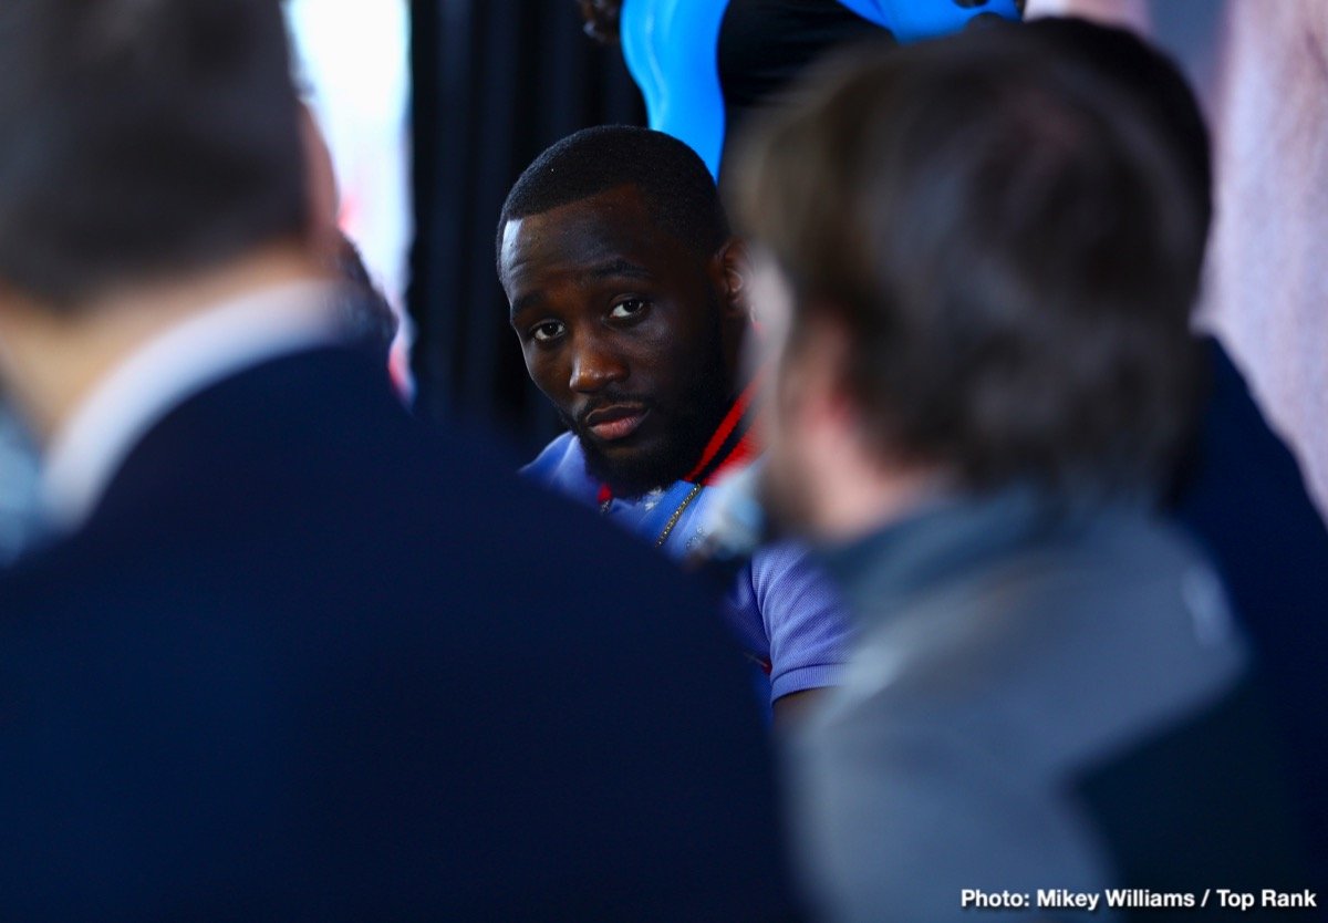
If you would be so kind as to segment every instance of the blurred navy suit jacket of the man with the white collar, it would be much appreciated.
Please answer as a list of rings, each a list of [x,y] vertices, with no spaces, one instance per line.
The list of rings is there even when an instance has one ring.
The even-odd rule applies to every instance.
[[[710,600],[347,351],[193,397],[0,583],[0,919],[764,920]]]

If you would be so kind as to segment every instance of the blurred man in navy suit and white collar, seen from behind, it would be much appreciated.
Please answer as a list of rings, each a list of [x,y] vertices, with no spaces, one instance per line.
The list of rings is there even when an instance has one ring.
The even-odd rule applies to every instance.
[[[0,57],[60,533],[0,580],[0,918],[784,919],[710,600],[341,343],[278,4],[9,3]]]

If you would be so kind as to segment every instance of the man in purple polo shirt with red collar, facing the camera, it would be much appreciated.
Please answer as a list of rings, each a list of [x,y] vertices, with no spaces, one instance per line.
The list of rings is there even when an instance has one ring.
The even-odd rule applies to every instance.
[[[526,473],[675,558],[697,550],[709,487],[760,453],[742,248],[705,165],[659,131],[578,131],[513,186],[497,246],[526,368],[568,429]],[[834,683],[845,627],[802,548],[758,548],[729,603],[777,712]]]

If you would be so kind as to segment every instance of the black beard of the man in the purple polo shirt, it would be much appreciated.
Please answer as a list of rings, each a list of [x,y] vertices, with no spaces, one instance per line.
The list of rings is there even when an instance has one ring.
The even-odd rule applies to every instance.
[[[567,428],[580,441],[586,456],[586,471],[607,483],[615,497],[635,499],[643,494],[687,477],[696,467],[710,436],[733,401],[733,381],[724,356],[720,333],[718,305],[714,307],[714,328],[708,348],[697,357],[699,367],[692,384],[683,390],[676,406],[661,408],[653,401],[632,394],[606,393],[603,401],[640,401],[652,413],[664,413],[668,434],[659,449],[637,453],[629,458],[614,460],[595,442],[586,428],[567,414],[560,414]]]

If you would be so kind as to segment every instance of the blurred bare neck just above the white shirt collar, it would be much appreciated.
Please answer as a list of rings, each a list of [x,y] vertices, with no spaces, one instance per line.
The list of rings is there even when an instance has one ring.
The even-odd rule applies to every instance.
[[[0,305],[0,361],[35,434],[48,442],[143,344],[214,304],[317,278],[303,244],[280,243],[219,268],[106,291],[69,309],[11,297]]]

